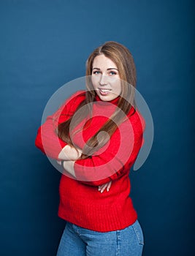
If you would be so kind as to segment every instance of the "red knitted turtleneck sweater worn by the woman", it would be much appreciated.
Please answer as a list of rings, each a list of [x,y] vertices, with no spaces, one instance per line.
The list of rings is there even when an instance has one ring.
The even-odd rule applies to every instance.
[[[57,137],[55,129],[73,115],[84,99],[85,93],[77,92],[39,127],[35,144],[48,157],[58,159],[66,143]],[[117,103],[118,99],[105,103],[96,97],[88,128],[72,137],[74,144],[82,149],[111,116]],[[121,230],[136,221],[137,212],[129,197],[129,171],[143,143],[145,121],[138,110],[132,113],[133,107],[103,148],[74,163],[76,179],[61,176],[59,217],[99,232]],[[82,128],[85,121],[82,123],[77,129]],[[110,191],[99,192],[98,186],[108,181],[112,181]]]

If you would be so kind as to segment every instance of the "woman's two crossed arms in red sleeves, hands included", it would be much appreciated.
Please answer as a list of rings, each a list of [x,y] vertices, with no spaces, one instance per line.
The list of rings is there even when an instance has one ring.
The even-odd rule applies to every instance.
[[[87,181],[88,183],[90,181],[90,184],[98,187],[103,192],[106,188],[110,189],[111,180],[116,180],[119,176],[123,175],[123,171],[126,171],[123,168],[126,162],[128,168],[130,168],[137,157],[142,140],[142,124],[140,121],[137,121],[138,117],[133,118],[132,124],[135,132],[131,124],[128,124],[130,121],[127,122],[127,126],[126,122],[121,124],[121,133],[119,133],[122,137],[120,140],[116,131],[112,135],[112,139],[104,153],[99,152],[99,155],[96,154],[91,156],[91,158],[80,159],[82,154],[80,148],[83,148],[83,146],[77,143],[77,146],[80,148],[71,147],[58,138],[55,132],[58,124],[65,121],[72,114],[72,111],[74,111],[73,106],[74,102],[70,100],[68,104],[62,105],[52,116],[48,116],[45,124],[39,127],[35,144],[43,153],[47,154],[47,157],[57,159],[59,165],[63,164],[64,170],[67,173],[73,177],[77,176],[81,182]],[[133,154],[131,154],[133,149],[131,147],[135,148]],[[102,176],[102,174],[104,175]],[[96,178],[96,180],[93,178]]]

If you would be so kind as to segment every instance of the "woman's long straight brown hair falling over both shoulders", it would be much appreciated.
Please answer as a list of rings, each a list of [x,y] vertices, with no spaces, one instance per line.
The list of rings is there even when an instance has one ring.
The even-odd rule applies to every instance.
[[[104,45],[99,46],[88,57],[86,61],[86,87],[85,91],[85,99],[80,105],[77,107],[77,110],[82,108],[81,111],[75,111],[74,121],[72,126],[72,116],[63,123],[58,125],[58,129],[56,130],[58,137],[61,140],[66,141],[70,146],[73,146],[72,140],[70,138],[70,124],[71,129],[77,127],[80,122],[91,114],[92,110],[92,102],[96,101],[96,91],[93,89],[93,84],[91,82],[91,74],[93,69],[93,60],[96,56],[104,54],[107,58],[111,59],[118,68],[118,74],[121,78],[121,95],[118,100],[118,108],[116,108],[115,112],[110,116],[110,118],[106,121],[106,123],[96,132],[93,137],[91,137],[85,147],[83,148],[82,158],[86,158],[91,156],[95,151],[99,148],[102,148],[107,141],[109,140],[109,136],[111,137],[115,130],[118,128],[118,125],[123,121],[124,113],[128,115],[131,106],[134,107],[135,112],[135,86],[136,86],[136,69],[134,65],[134,59],[130,53],[130,51],[118,42],[105,42]],[[122,111],[121,111],[122,110]],[[134,112],[132,114],[134,114]],[[101,140],[98,138],[99,132],[101,133]],[[104,133],[103,133],[104,132]],[[109,136],[107,136],[107,134]],[[100,137],[100,136],[99,136]]]

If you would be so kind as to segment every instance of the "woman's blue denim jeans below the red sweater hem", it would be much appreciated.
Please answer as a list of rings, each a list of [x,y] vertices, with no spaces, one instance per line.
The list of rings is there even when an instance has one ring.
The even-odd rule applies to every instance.
[[[105,233],[67,222],[57,256],[141,256],[143,245],[138,221],[123,230]]]

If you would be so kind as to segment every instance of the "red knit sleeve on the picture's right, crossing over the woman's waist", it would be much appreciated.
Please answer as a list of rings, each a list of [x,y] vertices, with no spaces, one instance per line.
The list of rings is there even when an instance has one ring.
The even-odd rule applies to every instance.
[[[145,129],[143,121],[137,115],[131,119],[123,122],[110,141],[96,154],[87,159],[78,159],[74,163],[77,180],[99,186],[129,172],[143,144]]]

